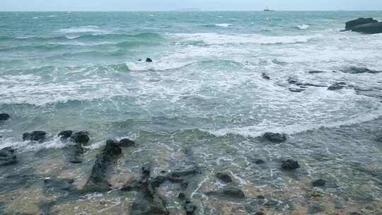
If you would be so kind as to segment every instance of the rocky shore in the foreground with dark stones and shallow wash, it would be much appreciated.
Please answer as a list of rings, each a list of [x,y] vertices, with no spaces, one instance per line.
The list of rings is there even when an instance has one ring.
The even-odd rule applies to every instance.
[[[120,139],[105,141],[99,150],[86,148],[91,133],[66,130],[57,134],[66,143],[62,149],[0,150],[0,212],[378,214],[381,123],[258,138],[195,131],[187,137],[195,141],[178,148]],[[184,137],[161,139],[170,143],[174,135],[173,141]],[[36,131],[22,138],[38,144],[50,136]],[[226,143],[207,144],[208,139]],[[374,150],[374,162],[364,149]],[[203,153],[216,156],[210,160]]]

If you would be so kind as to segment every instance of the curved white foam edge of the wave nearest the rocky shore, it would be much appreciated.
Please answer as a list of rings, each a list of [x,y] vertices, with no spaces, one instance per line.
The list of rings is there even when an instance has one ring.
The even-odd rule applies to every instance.
[[[382,117],[382,110],[375,110],[364,115],[353,115],[349,117],[348,120],[336,121],[330,123],[320,123],[320,124],[291,124],[287,126],[282,125],[269,125],[269,126],[248,126],[248,127],[233,127],[229,129],[218,129],[218,130],[206,130],[202,129],[204,132],[209,132],[215,136],[226,136],[227,134],[236,134],[241,136],[251,136],[257,137],[262,136],[265,132],[277,132],[284,134],[297,134],[301,132],[307,132],[312,130],[318,130],[322,128],[335,128],[341,126],[349,126],[352,124],[359,124],[362,122],[369,122],[371,120],[377,120]]]

